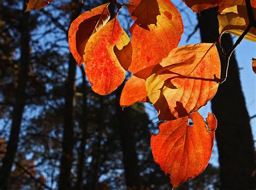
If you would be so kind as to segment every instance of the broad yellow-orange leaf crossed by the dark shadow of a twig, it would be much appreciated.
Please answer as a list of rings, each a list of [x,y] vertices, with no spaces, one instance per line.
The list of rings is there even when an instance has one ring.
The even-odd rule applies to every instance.
[[[147,96],[161,121],[197,111],[215,95],[220,59],[213,44],[178,47],[163,59],[146,80]]]

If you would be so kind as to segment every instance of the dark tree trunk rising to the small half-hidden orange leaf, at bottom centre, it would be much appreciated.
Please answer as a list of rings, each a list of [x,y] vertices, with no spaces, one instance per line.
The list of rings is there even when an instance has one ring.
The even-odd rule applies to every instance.
[[[127,189],[137,190],[140,188],[138,157],[134,140],[134,128],[130,122],[130,108],[122,110],[120,107],[120,95],[124,84],[116,90],[116,109],[119,122],[120,140],[123,149],[123,163]]]

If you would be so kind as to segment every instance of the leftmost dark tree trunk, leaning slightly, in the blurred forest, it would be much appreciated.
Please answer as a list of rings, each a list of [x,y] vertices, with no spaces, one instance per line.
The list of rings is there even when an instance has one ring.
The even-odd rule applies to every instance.
[[[26,1],[24,1],[21,18],[21,70],[19,71],[18,85],[15,94],[14,110],[12,111],[12,124],[10,138],[3,158],[3,164],[0,170],[0,187],[2,190],[8,189],[8,181],[11,173],[11,167],[14,163],[19,142],[19,132],[21,131],[22,114],[26,101],[26,82],[28,80],[30,64],[30,27],[29,12],[24,12]]]

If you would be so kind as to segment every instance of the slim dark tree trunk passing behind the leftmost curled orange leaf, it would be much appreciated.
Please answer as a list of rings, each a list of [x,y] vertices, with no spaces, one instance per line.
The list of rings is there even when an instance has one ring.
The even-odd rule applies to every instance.
[[[81,11],[82,5],[79,0],[71,2],[71,18],[72,22],[76,19]],[[64,131],[62,142],[62,158],[60,159],[60,176],[59,190],[71,189],[71,167],[73,161],[73,106],[75,103],[75,76],[76,76],[76,61],[72,54],[69,57],[69,72],[68,79],[65,85],[65,108],[64,108]]]

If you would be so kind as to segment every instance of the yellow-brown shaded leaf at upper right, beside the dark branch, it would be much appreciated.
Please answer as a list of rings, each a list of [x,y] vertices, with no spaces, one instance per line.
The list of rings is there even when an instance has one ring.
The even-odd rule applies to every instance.
[[[256,9],[253,8],[254,17],[256,18]],[[231,8],[225,9],[218,15],[219,20],[219,32],[221,35],[225,32],[234,34],[235,36],[241,36],[246,30],[249,19],[247,16],[246,6],[237,5]],[[256,29],[252,27],[251,30],[246,34],[245,39],[250,41],[256,41]]]

